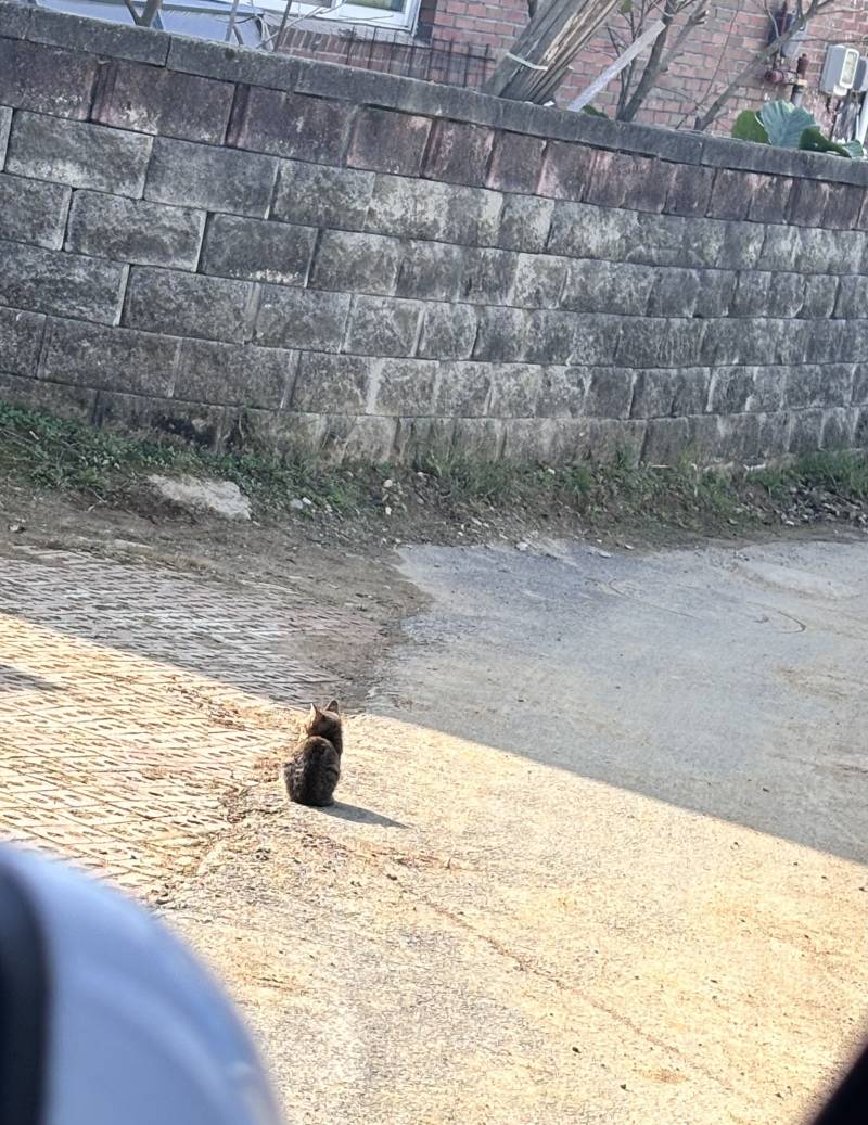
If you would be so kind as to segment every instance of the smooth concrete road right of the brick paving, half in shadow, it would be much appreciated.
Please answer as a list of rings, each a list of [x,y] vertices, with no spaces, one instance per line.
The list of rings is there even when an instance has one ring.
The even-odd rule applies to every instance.
[[[868,543],[551,555],[408,551],[343,803],[181,903],[294,1122],[796,1123],[865,1029]]]

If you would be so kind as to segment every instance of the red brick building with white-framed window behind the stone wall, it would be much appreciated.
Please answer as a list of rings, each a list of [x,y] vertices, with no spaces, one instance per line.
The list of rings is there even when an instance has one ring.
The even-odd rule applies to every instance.
[[[312,18],[314,11],[317,16]],[[527,0],[361,0],[332,3],[332,10],[299,3],[285,29],[283,50],[348,62],[372,70],[409,73],[435,81],[478,87],[528,21]],[[615,21],[623,17],[614,17]],[[769,18],[762,0],[712,0],[708,18],[695,28],[684,50],[645,102],[638,120],[691,127],[697,109],[707,106],[768,42]],[[834,106],[818,92],[826,45],[845,43],[868,51],[868,0],[841,0],[807,29],[802,51],[808,56],[805,105],[831,124]],[[615,57],[603,30],[576,58],[561,104],[591,82]],[[788,64],[788,66],[791,64]],[[732,99],[715,132],[727,132],[732,116],[768,98],[789,97],[790,86],[763,79],[757,65]],[[611,114],[618,80],[594,99]]]

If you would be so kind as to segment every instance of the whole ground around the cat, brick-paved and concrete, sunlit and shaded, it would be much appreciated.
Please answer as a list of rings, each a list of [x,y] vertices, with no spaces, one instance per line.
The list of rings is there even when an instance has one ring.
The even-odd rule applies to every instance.
[[[0,825],[158,904],[290,1122],[803,1120],[866,1030],[868,540],[636,546],[7,492]]]

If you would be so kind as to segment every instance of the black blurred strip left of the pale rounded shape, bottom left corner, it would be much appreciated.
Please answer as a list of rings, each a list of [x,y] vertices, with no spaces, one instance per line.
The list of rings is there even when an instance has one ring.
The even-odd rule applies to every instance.
[[[43,1125],[48,973],[38,919],[0,873],[0,1125]]]

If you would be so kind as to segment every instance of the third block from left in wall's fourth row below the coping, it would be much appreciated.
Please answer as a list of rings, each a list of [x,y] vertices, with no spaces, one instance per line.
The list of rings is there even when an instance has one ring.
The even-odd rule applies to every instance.
[[[346,292],[265,285],[256,340],[269,348],[338,351],[347,327],[350,300]]]

